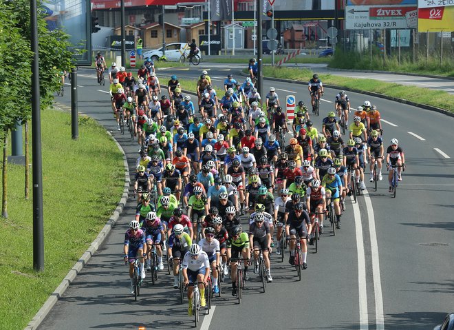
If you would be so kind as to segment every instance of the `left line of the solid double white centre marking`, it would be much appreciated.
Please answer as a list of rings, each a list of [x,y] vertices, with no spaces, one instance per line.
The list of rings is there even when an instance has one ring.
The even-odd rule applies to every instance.
[[[361,225],[361,214],[358,203],[353,203],[352,207],[355,218],[356,231],[356,253],[358,255],[358,292],[359,292],[359,320],[360,330],[369,329],[369,316],[367,313],[367,285],[366,285],[366,260],[364,254],[363,226]]]

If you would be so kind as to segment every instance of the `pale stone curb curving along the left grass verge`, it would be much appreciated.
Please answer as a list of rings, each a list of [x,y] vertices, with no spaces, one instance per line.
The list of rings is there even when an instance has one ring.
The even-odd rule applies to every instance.
[[[118,202],[118,205],[114,211],[114,214],[111,215],[105,226],[102,228],[96,239],[91,243],[89,248],[85,251],[85,253],[77,260],[76,264],[72,267],[71,270],[69,270],[68,274],[63,278],[61,281],[60,285],[54,290],[54,292],[51,293],[50,297],[47,298],[45,301],[43,307],[39,309],[38,313],[35,314],[35,316],[32,318],[30,323],[28,323],[27,327],[25,327],[25,330],[34,330],[39,327],[41,322],[45,319],[47,314],[52,310],[52,307],[56,304],[56,302],[63,296],[63,293],[65,293],[66,289],[69,287],[71,282],[76,278],[76,276],[79,274],[80,270],[83,269],[83,267],[87,264],[87,262],[90,260],[91,256],[93,256],[96,251],[98,251],[99,247],[104,243],[104,240],[109,236],[109,233],[116,224],[118,218],[120,217],[120,214],[123,211],[123,208],[126,205],[127,199],[128,199],[128,193],[129,193],[129,184],[130,184],[130,178],[129,178],[129,166],[128,166],[128,161],[127,157],[125,154],[125,150],[123,150],[122,146],[112,134],[106,130],[106,133],[111,136],[112,140],[116,143],[118,149],[120,149],[120,152],[123,154],[123,165],[125,167],[125,185],[123,186],[123,193],[120,198],[120,201]]]

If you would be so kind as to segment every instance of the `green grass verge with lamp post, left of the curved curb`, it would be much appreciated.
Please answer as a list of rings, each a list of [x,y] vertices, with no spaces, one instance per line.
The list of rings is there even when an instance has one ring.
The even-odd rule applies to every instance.
[[[33,270],[32,173],[24,200],[24,168],[9,164],[9,217],[0,217],[0,329],[30,322],[105,225],[124,185],[122,154],[94,120],[81,118],[73,141],[69,114],[45,110],[41,119],[44,271]]]

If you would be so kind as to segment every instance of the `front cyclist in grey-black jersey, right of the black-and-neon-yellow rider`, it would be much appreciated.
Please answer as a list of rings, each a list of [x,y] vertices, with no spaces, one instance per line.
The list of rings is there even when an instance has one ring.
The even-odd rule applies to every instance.
[[[251,253],[252,251],[254,252],[254,273],[259,274],[259,262],[257,259],[261,250],[266,267],[266,279],[268,282],[272,282],[269,257],[269,251],[271,249],[270,225],[265,222],[263,213],[256,213],[255,221],[249,227],[249,244],[252,247]]]

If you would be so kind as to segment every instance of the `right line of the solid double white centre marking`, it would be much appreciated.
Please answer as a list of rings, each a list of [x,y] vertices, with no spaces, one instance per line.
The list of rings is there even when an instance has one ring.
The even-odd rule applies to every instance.
[[[380,258],[378,256],[377,233],[375,229],[375,216],[372,201],[367,189],[363,190],[364,200],[366,202],[367,218],[369,219],[369,236],[371,240],[371,257],[372,257],[372,276],[374,278],[374,295],[375,295],[375,318],[376,330],[385,329],[385,318],[383,316],[383,295],[382,280],[380,276]]]

